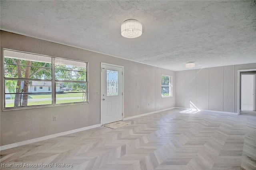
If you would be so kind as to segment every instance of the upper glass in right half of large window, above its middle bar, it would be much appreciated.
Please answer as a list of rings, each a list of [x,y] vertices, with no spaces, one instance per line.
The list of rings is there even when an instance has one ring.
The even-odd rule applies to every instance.
[[[86,81],[86,63],[55,59],[55,80]]]

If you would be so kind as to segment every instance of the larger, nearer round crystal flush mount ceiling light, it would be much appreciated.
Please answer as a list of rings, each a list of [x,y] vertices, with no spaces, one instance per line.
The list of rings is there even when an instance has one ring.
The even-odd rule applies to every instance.
[[[126,20],[121,25],[121,35],[126,38],[136,38],[142,35],[142,24],[138,20]]]

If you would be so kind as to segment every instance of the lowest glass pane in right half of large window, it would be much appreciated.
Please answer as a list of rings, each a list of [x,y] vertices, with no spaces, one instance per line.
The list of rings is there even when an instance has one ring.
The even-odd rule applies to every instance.
[[[56,104],[87,102],[86,92],[62,92],[56,93]]]

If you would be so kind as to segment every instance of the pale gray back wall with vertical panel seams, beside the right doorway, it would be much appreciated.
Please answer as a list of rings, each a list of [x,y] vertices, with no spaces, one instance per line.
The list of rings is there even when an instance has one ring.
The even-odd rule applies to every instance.
[[[237,113],[238,70],[256,68],[256,63],[176,72],[176,107]]]

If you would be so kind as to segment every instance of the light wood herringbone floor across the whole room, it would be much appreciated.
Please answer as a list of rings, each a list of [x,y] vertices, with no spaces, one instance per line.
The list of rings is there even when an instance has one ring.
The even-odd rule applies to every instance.
[[[118,129],[102,126],[3,150],[1,164],[73,164],[49,169],[81,170],[256,170],[254,112],[172,109],[126,122],[129,125]]]

